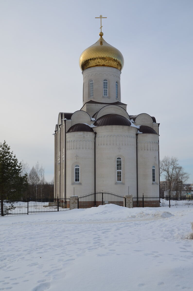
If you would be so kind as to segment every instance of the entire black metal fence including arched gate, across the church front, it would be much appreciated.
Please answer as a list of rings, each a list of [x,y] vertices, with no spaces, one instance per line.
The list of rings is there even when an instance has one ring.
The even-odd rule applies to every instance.
[[[97,192],[78,198],[78,208],[97,207],[105,204],[126,205],[126,198],[111,192]],[[124,202],[124,203],[123,203]],[[193,207],[192,197],[139,196],[133,197],[133,208],[136,207]],[[18,199],[3,200],[3,215],[24,215],[31,213],[45,213],[70,210],[70,198],[60,199]],[[1,215],[1,209],[0,209]]]

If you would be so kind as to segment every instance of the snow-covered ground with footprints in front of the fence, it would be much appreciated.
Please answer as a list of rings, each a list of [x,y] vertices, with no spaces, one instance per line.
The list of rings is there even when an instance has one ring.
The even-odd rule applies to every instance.
[[[0,217],[0,290],[193,290],[192,208]]]

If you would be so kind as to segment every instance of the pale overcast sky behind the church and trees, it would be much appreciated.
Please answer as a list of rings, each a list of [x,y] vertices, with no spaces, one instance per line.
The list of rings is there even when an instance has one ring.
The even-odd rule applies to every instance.
[[[0,0],[0,142],[54,176],[59,112],[82,107],[82,51],[103,38],[124,56],[121,101],[160,123],[160,159],[193,182],[193,1]]]

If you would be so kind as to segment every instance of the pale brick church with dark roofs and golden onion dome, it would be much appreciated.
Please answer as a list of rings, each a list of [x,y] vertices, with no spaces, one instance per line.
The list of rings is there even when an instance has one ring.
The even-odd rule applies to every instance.
[[[83,107],[55,127],[54,196],[108,191],[159,197],[159,123],[121,102],[121,52],[99,40],[80,55]],[[124,96],[124,100],[126,96]],[[137,108],[136,108],[137,109]]]

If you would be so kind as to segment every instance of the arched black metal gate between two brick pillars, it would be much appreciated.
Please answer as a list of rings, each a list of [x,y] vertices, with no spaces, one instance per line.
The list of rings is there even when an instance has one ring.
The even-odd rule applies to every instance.
[[[91,193],[78,198],[78,208],[97,207],[104,204],[123,206],[123,196],[111,192]]]

